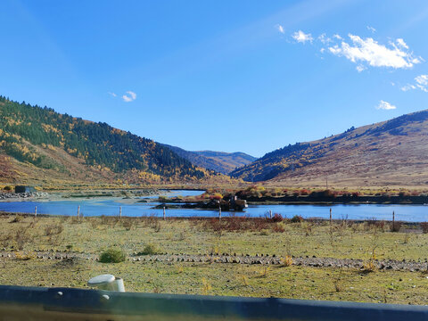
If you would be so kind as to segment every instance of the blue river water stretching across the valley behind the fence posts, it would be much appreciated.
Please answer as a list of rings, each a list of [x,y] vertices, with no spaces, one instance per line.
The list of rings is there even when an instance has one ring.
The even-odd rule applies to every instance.
[[[161,191],[159,195],[165,196],[194,196],[204,191]],[[77,214],[78,206],[80,213],[86,217],[119,215],[119,207],[122,208],[122,216],[162,216],[163,210],[152,210],[153,206],[160,204],[156,202],[159,195],[144,197],[148,202],[135,202],[119,197],[105,197],[92,199],[63,199],[59,201],[20,201],[0,202],[0,210],[9,212],[33,213],[37,206],[38,214],[68,215]],[[424,222],[428,220],[428,206],[424,205],[383,205],[383,204],[336,204],[336,205],[249,205],[243,212],[223,212],[222,216],[228,215],[264,217],[269,210],[279,213],[283,217],[292,218],[300,215],[303,218],[329,218],[332,209],[333,218],[349,219],[392,219],[392,211],[395,219],[407,222]],[[167,217],[218,217],[217,210],[193,210],[177,209],[166,210]]]

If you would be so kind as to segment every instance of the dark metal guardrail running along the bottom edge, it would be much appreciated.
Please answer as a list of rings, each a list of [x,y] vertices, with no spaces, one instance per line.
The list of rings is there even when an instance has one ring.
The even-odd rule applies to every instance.
[[[426,320],[428,307],[0,286],[7,320]]]

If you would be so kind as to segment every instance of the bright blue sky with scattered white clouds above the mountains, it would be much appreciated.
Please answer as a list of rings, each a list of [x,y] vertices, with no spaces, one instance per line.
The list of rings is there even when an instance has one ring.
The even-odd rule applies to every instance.
[[[421,1],[0,2],[0,94],[262,156],[428,108]]]

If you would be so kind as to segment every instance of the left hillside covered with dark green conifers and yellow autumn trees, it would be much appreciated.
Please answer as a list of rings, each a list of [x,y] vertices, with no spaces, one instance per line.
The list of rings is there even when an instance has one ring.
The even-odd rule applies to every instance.
[[[0,96],[0,179],[128,183],[210,177],[151,139]]]

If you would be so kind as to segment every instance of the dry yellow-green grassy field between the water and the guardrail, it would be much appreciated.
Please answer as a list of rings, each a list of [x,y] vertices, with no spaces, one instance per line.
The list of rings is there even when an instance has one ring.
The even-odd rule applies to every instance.
[[[426,304],[425,272],[312,268],[201,262],[36,259],[35,251],[100,254],[108,248],[128,257],[151,244],[158,252],[352,259],[428,257],[421,226],[370,221],[290,221],[157,218],[24,218],[0,216],[0,247],[19,259],[1,258],[0,284],[86,287],[103,273],[123,277],[127,291],[203,293],[312,300]]]

